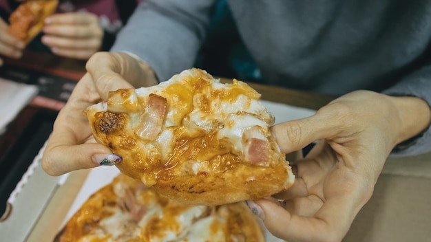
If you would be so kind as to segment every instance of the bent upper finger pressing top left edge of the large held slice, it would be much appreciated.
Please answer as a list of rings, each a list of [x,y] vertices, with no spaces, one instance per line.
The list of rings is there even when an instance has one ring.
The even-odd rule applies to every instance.
[[[107,100],[109,91],[134,88],[121,76],[123,67],[116,53],[98,52],[87,61],[85,68],[103,100]]]

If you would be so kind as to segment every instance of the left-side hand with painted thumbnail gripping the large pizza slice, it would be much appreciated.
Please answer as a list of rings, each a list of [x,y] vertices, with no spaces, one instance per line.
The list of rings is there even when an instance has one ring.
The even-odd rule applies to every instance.
[[[107,100],[117,89],[155,85],[151,68],[124,53],[99,52],[87,62],[87,74],[78,81],[70,99],[54,122],[52,135],[43,154],[42,166],[50,175],[99,166],[113,157],[109,148],[97,144],[83,111]]]

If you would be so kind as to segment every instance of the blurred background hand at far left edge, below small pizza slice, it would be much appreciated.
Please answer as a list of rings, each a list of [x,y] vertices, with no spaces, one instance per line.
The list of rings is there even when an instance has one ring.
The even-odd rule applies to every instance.
[[[20,58],[25,47],[23,41],[19,41],[8,33],[9,25],[0,18],[0,55],[10,58]],[[0,58],[0,65],[3,59]]]

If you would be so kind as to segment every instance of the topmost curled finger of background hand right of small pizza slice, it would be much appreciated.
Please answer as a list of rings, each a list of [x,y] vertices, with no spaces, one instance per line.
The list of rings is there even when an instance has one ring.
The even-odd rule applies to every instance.
[[[70,25],[87,25],[98,23],[95,14],[89,12],[67,12],[61,14],[52,14],[45,19],[45,25],[70,24]]]

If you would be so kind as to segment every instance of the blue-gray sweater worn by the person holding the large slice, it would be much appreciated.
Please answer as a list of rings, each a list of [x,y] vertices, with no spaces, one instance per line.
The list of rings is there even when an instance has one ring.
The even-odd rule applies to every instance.
[[[193,66],[215,0],[145,0],[112,51],[159,80]],[[244,45],[270,85],[340,96],[368,89],[431,104],[431,1],[232,0]],[[412,117],[414,118],[414,117]],[[431,151],[431,129],[392,155]]]

